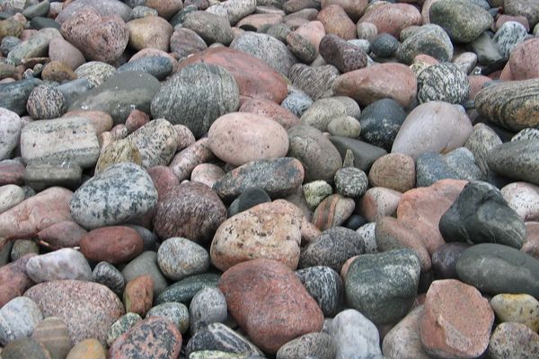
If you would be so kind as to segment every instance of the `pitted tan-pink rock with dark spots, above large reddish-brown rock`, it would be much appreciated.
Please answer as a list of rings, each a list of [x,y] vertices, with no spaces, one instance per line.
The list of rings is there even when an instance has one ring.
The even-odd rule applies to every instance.
[[[222,223],[211,242],[210,256],[213,265],[223,271],[253,258],[278,260],[295,270],[300,243],[298,217],[268,202]]]

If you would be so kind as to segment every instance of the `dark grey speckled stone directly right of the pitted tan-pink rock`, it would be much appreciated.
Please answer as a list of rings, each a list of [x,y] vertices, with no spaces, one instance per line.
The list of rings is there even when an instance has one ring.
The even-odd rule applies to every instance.
[[[340,273],[348,258],[365,253],[365,242],[358,232],[332,227],[309,243],[299,257],[299,268],[324,266]]]

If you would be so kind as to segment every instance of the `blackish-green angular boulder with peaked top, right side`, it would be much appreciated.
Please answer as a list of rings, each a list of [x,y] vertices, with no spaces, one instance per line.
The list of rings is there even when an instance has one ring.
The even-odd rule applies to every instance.
[[[439,222],[446,241],[499,243],[519,250],[526,239],[523,220],[486,182],[468,183]]]

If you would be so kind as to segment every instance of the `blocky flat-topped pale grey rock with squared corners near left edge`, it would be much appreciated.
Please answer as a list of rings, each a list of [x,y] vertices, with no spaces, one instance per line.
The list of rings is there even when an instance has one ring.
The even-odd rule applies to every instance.
[[[22,128],[21,154],[25,162],[75,162],[91,167],[99,158],[95,130],[86,118],[33,121]]]

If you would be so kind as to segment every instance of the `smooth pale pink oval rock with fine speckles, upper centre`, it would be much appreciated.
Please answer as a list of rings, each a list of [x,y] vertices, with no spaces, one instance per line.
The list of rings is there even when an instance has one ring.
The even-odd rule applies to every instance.
[[[209,148],[221,160],[234,166],[279,158],[288,152],[287,130],[262,115],[232,112],[209,127]]]

